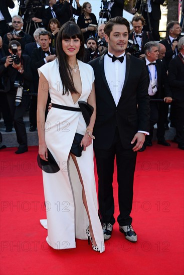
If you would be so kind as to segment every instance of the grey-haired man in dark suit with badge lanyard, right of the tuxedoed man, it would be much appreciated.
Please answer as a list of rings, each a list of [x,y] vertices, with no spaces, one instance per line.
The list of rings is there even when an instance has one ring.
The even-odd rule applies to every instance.
[[[150,99],[163,98],[164,102],[170,103],[172,101],[171,91],[168,86],[166,70],[162,62],[158,60],[158,43],[155,41],[147,42],[144,46],[144,52],[146,55],[146,74],[149,81],[148,94]],[[146,135],[145,142],[139,151],[144,151],[146,146],[152,146],[153,128],[158,121],[158,114],[159,103],[153,100],[150,101],[150,133]],[[170,144],[167,143],[164,136],[158,139],[158,144],[169,146]]]

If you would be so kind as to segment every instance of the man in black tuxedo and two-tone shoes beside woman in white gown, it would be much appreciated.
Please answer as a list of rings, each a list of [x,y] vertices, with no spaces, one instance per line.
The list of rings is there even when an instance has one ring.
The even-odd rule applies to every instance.
[[[128,21],[120,16],[112,18],[104,31],[108,52],[89,62],[95,74],[94,150],[99,210],[104,239],[109,239],[115,223],[112,182],[116,156],[120,211],[117,221],[125,237],[136,241],[130,213],[136,155],[149,131],[148,81],[144,61],[125,53],[130,31]]]

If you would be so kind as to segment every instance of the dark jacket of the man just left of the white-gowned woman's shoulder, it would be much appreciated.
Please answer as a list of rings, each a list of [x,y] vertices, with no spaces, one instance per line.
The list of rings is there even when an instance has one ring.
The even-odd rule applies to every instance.
[[[50,47],[51,54],[56,54],[55,48]],[[45,64],[44,58],[45,53],[41,47],[34,48],[31,57],[31,67],[33,72],[33,81],[34,81],[34,92],[38,92],[38,84],[39,84],[39,74],[38,68]]]

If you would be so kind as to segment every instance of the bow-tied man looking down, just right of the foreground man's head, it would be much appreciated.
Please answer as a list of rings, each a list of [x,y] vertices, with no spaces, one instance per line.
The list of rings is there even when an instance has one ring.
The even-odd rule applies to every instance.
[[[151,31],[142,30],[145,25],[145,19],[142,15],[135,15],[132,18],[133,31],[129,34],[129,39],[133,40],[134,44],[138,44],[140,54],[136,57],[143,58],[144,54],[144,45],[149,41],[154,41]]]

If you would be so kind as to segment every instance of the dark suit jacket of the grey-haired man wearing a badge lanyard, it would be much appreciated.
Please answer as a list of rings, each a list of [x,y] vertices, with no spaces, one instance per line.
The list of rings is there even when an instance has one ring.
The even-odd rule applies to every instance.
[[[144,61],[145,61],[145,59],[144,59]],[[147,72],[147,78],[149,81],[148,66],[146,66],[146,72]],[[157,86],[157,92],[155,94],[155,97],[158,99],[164,98],[165,96],[172,97],[172,93],[171,93],[170,87],[168,85],[168,77],[167,77],[165,66],[164,66],[163,62],[160,61],[159,59],[156,60],[156,73],[157,73],[158,86]],[[150,96],[150,98],[151,98],[151,96]]]

